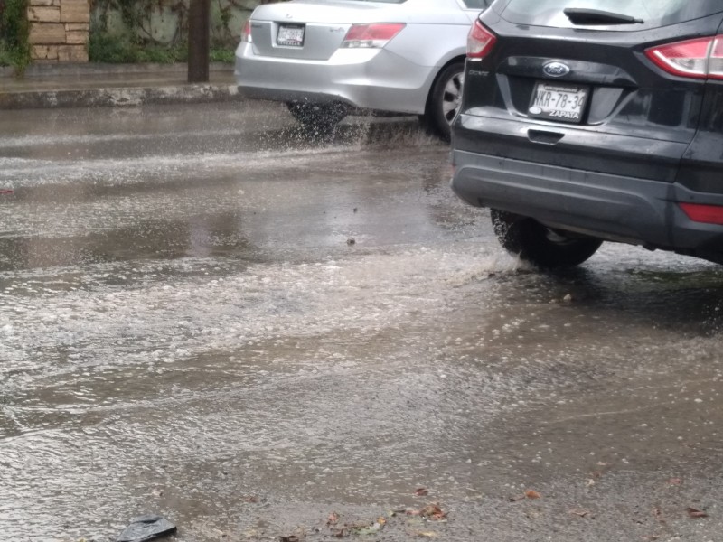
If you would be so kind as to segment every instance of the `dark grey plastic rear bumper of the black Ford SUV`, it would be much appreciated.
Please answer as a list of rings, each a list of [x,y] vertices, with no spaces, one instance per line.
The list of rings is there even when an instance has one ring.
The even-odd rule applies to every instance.
[[[452,189],[475,206],[507,210],[559,229],[718,261],[723,226],[694,222],[678,202],[723,205],[723,195],[676,182],[453,150]]]

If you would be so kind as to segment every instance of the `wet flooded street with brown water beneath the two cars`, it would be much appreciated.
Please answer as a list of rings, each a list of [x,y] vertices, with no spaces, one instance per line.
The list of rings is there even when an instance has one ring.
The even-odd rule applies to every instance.
[[[0,540],[723,540],[723,268],[540,275],[448,152],[255,103],[2,112]]]

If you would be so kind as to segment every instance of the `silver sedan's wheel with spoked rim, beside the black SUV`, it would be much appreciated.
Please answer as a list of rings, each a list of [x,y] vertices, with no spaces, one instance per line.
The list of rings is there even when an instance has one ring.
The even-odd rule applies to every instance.
[[[439,72],[429,91],[422,126],[443,141],[449,141],[450,125],[459,109],[464,82],[465,62],[455,61]]]

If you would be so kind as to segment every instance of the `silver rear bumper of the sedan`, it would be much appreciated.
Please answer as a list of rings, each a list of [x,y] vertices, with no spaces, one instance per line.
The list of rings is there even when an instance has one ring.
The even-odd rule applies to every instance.
[[[246,42],[236,51],[236,81],[247,98],[422,114],[431,73],[384,49],[339,50],[326,61],[258,56]]]

